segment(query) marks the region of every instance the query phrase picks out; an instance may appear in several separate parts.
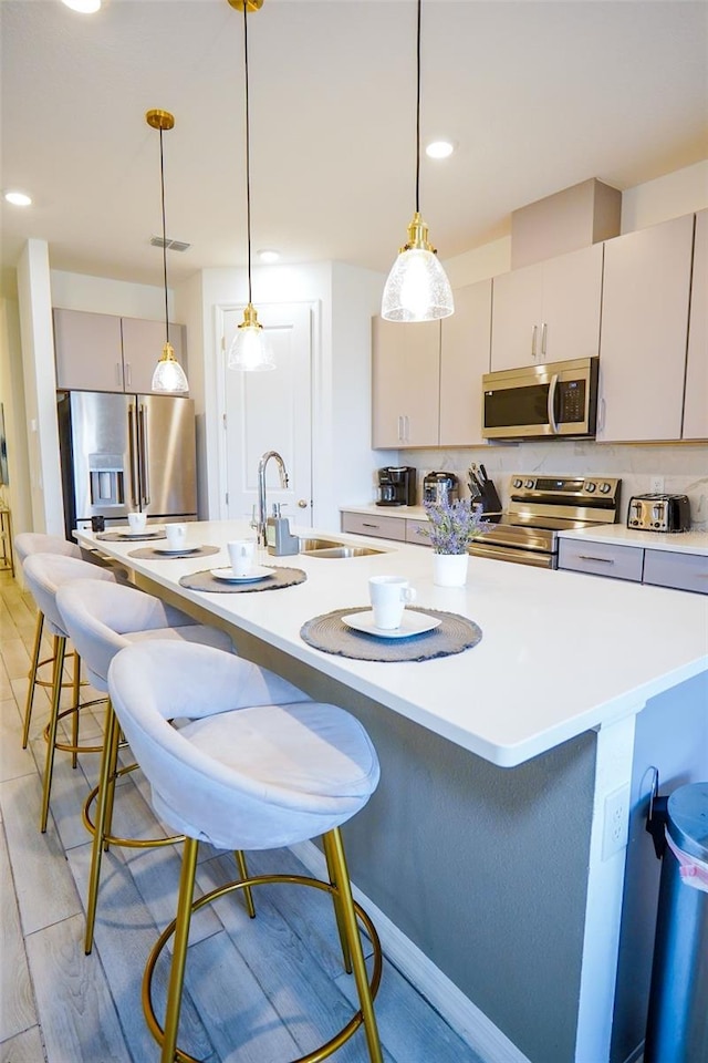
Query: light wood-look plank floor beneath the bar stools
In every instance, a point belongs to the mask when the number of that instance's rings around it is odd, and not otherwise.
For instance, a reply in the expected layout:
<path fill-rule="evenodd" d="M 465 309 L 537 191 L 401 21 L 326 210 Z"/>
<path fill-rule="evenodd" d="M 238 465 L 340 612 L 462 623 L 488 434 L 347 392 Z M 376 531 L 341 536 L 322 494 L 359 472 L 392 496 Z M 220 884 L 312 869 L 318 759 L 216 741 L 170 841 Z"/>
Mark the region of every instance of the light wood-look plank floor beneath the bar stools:
<path fill-rule="evenodd" d="M 34 616 L 31 597 L 0 574 L 1 1063 L 152 1063 L 158 1052 L 143 1018 L 140 981 L 158 930 L 174 916 L 179 849 L 114 847 L 104 857 L 96 945 L 86 957 L 91 843 L 81 806 L 98 758 L 84 755 L 72 771 L 69 755 L 56 754 L 50 824 L 41 835 L 44 691 L 35 699 L 30 747 L 21 749 Z M 82 723 L 82 739 L 100 734 L 101 725 L 97 708 Z M 118 833 L 159 832 L 139 773 L 121 782 L 116 814 Z M 249 869 L 305 874 L 288 850 L 249 854 Z M 232 856 L 202 846 L 200 888 L 233 877 Z M 327 897 L 270 886 L 256 900 L 254 920 L 231 896 L 192 923 L 179 1042 L 207 1063 L 292 1060 L 352 1011 L 353 979 L 342 972 Z M 167 963 L 165 957 L 155 979 L 159 1015 Z M 386 1063 L 482 1063 L 389 963 L 376 1012 Z M 363 1032 L 333 1059 L 366 1063 Z"/>

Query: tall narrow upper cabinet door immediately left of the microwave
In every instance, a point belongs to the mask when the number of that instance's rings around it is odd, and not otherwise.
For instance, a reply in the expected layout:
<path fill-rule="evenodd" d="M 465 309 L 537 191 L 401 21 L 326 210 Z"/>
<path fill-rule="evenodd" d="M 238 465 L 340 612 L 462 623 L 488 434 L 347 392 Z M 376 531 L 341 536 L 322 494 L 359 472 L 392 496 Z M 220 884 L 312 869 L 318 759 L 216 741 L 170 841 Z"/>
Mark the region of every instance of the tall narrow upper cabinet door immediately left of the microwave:
<path fill-rule="evenodd" d="M 440 446 L 482 445 L 483 373 L 489 372 L 491 280 L 455 291 L 455 313 L 441 321 Z"/>

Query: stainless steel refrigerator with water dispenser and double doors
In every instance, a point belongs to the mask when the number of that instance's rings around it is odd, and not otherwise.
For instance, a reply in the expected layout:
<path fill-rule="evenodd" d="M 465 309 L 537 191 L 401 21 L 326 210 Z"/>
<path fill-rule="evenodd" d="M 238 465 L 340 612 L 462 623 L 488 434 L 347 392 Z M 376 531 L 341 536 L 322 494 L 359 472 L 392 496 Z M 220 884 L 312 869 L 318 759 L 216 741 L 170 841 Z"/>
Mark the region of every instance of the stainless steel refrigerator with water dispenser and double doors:
<path fill-rule="evenodd" d="M 195 404 L 173 395 L 56 395 L 66 536 L 91 518 L 197 518 Z"/>

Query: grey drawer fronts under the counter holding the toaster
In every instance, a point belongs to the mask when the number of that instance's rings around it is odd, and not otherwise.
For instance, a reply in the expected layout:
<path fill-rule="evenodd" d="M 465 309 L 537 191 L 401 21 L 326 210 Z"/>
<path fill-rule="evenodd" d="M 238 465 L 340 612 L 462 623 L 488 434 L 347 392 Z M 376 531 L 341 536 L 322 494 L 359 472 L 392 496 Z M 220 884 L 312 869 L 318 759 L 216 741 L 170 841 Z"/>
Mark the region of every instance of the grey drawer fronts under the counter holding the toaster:
<path fill-rule="evenodd" d="M 708 557 L 701 554 L 561 539 L 559 568 L 708 595 Z"/>

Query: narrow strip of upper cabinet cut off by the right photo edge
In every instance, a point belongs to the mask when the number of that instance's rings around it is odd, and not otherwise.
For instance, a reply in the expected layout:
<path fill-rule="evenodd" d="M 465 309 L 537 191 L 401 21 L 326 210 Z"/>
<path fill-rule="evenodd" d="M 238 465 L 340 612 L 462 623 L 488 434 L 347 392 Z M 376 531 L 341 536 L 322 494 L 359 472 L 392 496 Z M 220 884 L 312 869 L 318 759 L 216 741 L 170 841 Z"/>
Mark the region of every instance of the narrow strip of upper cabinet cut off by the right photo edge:
<path fill-rule="evenodd" d="M 696 215 L 683 438 L 708 440 L 708 210 Z"/>

